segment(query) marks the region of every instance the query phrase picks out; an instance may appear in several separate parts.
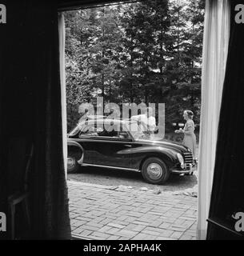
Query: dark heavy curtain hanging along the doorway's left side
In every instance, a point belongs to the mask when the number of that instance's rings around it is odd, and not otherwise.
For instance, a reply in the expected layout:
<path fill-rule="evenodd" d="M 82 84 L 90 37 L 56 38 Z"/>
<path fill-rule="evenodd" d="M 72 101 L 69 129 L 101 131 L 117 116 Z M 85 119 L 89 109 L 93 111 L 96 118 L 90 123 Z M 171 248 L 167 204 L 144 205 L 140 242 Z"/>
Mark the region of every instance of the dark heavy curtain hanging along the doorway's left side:
<path fill-rule="evenodd" d="M 43 4 L 42 4 L 43 5 Z M 62 151 L 57 6 L 38 6 L 38 82 L 35 112 L 36 173 L 33 191 L 34 233 L 42 238 L 70 238 L 68 196 Z M 33 15 L 34 18 L 34 15 Z M 44 86 L 45 85 L 45 86 Z"/>

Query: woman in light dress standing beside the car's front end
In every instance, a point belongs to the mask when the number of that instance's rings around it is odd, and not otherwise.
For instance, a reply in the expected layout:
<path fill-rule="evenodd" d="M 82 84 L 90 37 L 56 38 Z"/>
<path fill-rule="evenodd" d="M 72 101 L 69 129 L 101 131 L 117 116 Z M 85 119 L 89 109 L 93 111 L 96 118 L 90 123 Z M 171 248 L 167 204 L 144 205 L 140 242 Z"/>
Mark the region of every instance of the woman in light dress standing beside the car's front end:
<path fill-rule="evenodd" d="M 183 118 L 186 120 L 184 129 L 175 130 L 178 134 L 184 134 L 183 145 L 187 146 L 193 154 L 194 159 L 196 159 L 196 135 L 194 134 L 194 122 L 192 120 L 194 114 L 190 110 L 185 110 Z"/>

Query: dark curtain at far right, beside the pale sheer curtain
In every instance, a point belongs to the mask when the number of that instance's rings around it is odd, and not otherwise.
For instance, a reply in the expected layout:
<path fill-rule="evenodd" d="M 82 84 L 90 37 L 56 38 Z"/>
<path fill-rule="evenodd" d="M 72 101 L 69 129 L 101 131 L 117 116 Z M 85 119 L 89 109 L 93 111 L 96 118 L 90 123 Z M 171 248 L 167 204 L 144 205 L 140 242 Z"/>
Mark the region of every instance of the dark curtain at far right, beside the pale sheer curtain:
<path fill-rule="evenodd" d="M 244 4 L 244 1 L 230 1 L 230 44 L 209 215 L 211 220 L 221 223 L 230 230 L 234 230 L 236 222 L 232 215 L 244 212 L 244 24 L 234 21 L 237 14 L 234 8 L 240 3 Z M 230 230 L 209 223 L 207 239 L 243 239 Z"/>

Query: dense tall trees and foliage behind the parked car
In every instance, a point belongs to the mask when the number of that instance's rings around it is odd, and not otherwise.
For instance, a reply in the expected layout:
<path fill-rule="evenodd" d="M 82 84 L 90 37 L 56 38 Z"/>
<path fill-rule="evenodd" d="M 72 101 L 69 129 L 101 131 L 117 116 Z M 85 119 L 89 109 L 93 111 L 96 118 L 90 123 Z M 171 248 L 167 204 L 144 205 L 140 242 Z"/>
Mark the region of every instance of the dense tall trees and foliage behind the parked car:
<path fill-rule="evenodd" d="M 204 1 L 154 0 L 66 12 L 68 130 L 78 106 L 166 103 L 166 128 L 199 123 Z"/>

